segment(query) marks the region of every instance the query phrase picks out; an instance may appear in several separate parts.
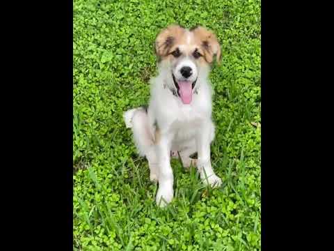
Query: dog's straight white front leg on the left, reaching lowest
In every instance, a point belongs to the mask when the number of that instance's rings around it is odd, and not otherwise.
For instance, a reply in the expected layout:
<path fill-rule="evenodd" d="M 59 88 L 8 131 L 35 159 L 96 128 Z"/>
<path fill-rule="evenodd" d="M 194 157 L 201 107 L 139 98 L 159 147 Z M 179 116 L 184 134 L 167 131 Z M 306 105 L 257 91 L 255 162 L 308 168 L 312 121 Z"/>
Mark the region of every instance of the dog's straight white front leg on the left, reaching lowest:
<path fill-rule="evenodd" d="M 173 135 L 161 134 L 157 142 L 157 155 L 159 158 L 159 189 L 157 192 L 157 204 L 166 206 L 173 199 L 173 169 L 170 167 L 170 146 Z M 163 198 L 163 199 L 161 199 Z M 165 202 L 166 201 L 166 202 Z"/>

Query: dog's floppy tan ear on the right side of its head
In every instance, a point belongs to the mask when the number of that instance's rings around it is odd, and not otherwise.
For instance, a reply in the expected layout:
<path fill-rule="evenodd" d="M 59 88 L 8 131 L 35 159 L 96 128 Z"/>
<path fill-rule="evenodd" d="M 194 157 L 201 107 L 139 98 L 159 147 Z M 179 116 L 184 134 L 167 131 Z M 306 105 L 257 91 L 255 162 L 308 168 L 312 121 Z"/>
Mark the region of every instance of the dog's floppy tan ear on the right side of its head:
<path fill-rule="evenodd" d="M 212 63 L 214 55 L 216 55 L 216 61 L 219 63 L 221 60 L 221 45 L 219 45 L 216 35 L 202 26 L 197 26 L 191 31 L 200 40 L 205 60 L 208 63 Z"/>

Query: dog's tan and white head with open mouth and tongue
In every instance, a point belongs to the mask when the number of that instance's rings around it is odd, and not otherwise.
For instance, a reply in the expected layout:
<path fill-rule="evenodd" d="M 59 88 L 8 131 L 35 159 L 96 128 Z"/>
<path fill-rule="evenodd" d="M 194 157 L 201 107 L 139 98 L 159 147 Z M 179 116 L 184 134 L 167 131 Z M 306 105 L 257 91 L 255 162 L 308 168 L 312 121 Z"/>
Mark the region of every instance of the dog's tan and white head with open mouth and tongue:
<path fill-rule="evenodd" d="M 214 55 L 217 62 L 221 56 L 216 36 L 201 26 L 190 30 L 168 26 L 157 36 L 155 50 L 159 60 L 170 68 L 170 88 L 176 89 L 184 104 L 192 100 L 201 69 L 208 68 Z"/>

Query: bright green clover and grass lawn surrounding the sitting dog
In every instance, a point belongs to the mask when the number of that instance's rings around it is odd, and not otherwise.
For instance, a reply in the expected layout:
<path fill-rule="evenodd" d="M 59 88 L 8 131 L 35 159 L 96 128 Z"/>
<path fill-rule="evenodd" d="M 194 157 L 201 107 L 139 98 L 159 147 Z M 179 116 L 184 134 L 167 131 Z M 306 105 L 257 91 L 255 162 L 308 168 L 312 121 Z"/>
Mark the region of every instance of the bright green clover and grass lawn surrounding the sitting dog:
<path fill-rule="evenodd" d="M 148 102 L 154 39 L 171 23 L 221 41 L 210 79 L 223 185 L 173 160 L 175 199 L 161 209 L 122 113 Z M 260 1 L 74 0 L 74 250 L 261 249 L 260 34 Z"/>

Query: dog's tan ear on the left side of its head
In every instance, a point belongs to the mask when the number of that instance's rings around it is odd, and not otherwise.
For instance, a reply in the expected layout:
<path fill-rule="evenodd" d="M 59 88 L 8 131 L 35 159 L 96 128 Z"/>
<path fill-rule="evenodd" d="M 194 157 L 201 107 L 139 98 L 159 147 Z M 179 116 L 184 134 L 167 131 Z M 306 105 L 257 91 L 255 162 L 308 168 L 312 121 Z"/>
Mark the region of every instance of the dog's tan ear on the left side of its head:
<path fill-rule="evenodd" d="M 155 40 L 155 52 L 158 56 L 166 56 L 170 52 L 170 48 L 175 45 L 176 38 L 180 38 L 184 33 L 184 29 L 176 24 L 168 26 L 162 30 Z"/>

